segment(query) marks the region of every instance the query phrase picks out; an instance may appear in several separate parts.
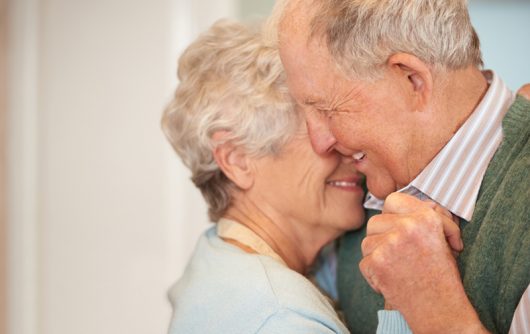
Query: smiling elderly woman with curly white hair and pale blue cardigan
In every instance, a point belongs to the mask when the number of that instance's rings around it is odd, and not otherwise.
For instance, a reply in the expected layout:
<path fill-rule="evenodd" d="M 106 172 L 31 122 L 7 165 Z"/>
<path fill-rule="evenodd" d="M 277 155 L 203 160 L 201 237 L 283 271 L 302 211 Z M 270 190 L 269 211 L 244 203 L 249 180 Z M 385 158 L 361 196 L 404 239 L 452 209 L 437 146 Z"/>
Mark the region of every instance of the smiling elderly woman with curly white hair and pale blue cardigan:
<path fill-rule="evenodd" d="M 163 129 L 216 224 L 170 292 L 170 333 L 348 332 L 306 275 L 325 282 L 320 251 L 363 224 L 361 175 L 313 152 L 277 49 L 220 21 L 188 47 L 178 77 Z"/>

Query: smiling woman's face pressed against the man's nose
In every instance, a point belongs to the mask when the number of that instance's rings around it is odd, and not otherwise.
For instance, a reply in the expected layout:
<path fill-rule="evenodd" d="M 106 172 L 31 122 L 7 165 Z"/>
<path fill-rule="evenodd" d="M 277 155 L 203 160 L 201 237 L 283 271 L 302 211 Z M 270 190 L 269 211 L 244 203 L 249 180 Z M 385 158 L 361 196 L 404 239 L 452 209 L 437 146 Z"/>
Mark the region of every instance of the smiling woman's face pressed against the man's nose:
<path fill-rule="evenodd" d="M 363 177 L 333 152 L 317 155 L 301 124 L 278 156 L 256 161 L 254 190 L 282 221 L 340 233 L 364 222 Z"/>

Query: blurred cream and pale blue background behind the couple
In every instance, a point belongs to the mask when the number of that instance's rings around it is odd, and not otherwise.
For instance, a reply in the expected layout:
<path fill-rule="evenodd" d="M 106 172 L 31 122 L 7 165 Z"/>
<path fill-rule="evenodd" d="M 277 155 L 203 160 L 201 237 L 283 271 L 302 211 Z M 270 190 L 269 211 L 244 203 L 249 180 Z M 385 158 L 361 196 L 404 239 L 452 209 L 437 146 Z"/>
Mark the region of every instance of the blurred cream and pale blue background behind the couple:
<path fill-rule="evenodd" d="M 272 4 L 0 0 L 0 333 L 166 332 L 209 226 L 159 126 L 177 56 Z M 530 82 L 530 1 L 470 11 L 486 67 Z"/>

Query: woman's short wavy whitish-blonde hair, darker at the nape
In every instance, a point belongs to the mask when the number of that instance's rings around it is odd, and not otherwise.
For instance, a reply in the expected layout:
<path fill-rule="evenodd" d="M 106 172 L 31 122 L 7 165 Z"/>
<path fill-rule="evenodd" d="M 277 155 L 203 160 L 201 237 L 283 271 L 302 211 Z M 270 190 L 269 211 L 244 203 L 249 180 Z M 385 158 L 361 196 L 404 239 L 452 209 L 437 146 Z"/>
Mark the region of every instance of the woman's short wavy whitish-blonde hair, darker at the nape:
<path fill-rule="evenodd" d="M 180 83 L 164 111 L 162 128 L 201 190 L 212 221 L 232 202 L 235 184 L 219 169 L 212 135 L 252 157 L 277 154 L 298 128 L 278 49 L 259 27 L 222 20 L 179 59 Z"/>

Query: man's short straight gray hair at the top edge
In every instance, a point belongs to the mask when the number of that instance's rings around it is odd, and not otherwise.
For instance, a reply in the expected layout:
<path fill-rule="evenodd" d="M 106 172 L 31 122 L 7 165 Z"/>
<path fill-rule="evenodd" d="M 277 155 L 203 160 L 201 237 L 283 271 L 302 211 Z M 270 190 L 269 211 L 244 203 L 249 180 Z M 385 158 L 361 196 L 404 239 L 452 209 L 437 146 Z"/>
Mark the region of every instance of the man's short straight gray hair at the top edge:
<path fill-rule="evenodd" d="M 311 37 L 323 37 L 349 74 L 377 76 L 398 52 L 434 69 L 482 66 L 466 0 L 314 0 L 314 6 Z"/>

